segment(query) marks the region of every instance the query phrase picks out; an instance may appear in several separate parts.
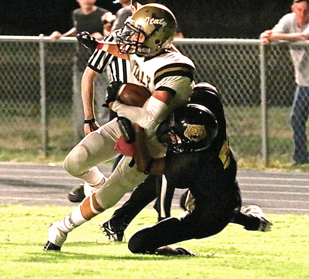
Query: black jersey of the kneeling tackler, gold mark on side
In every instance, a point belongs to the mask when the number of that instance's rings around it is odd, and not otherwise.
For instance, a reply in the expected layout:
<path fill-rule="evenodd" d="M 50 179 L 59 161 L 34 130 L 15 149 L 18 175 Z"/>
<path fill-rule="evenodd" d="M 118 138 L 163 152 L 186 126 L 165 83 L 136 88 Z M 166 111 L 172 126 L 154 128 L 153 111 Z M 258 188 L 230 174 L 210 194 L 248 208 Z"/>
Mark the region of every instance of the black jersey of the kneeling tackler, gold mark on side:
<path fill-rule="evenodd" d="M 201 151 L 175 153 L 168 150 L 165 177 L 168 185 L 189 188 L 196 205 L 214 208 L 222 206 L 222 195 L 228 199 L 238 192 L 235 183 L 236 161 L 228 144 L 226 120 L 220 98 L 217 94 L 204 90 L 194 94 L 191 101 L 207 107 L 216 116 L 218 134 L 212 144 Z M 231 208 L 235 208 L 233 206 L 231 205 Z"/>

